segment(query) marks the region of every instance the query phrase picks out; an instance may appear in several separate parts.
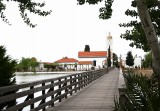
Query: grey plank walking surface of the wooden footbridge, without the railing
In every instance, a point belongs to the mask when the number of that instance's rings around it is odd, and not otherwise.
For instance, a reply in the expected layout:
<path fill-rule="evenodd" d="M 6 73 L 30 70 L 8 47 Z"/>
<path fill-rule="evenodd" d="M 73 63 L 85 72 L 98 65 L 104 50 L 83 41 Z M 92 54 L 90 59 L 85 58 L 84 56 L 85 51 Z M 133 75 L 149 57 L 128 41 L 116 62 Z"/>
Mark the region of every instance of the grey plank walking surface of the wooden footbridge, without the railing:
<path fill-rule="evenodd" d="M 114 69 L 47 111 L 112 111 L 114 97 L 118 95 L 118 78 L 119 70 Z"/>

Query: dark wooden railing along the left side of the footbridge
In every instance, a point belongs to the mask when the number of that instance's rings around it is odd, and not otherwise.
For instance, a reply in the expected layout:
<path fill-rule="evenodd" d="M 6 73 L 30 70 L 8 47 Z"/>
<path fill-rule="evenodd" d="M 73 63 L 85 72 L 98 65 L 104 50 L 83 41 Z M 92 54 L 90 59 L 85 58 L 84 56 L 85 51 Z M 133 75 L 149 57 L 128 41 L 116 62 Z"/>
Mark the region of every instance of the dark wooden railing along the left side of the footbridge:
<path fill-rule="evenodd" d="M 100 69 L 32 83 L 0 87 L 0 106 L 6 105 L 1 110 L 38 111 L 42 109 L 45 111 L 48 106 L 54 106 L 55 102 L 61 102 L 62 99 L 76 93 L 110 70 L 111 68 Z"/>

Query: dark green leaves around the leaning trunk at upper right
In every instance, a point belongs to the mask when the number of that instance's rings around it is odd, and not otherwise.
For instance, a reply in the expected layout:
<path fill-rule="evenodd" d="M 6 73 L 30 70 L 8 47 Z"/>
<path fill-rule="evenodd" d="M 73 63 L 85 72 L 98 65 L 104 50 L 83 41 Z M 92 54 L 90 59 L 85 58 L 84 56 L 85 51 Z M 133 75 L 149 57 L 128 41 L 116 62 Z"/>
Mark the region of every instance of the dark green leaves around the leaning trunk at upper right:
<path fill-rule="evenodd" d="M 158 4 L 156 3 L 156 0 L 147 0 L 147 7 L 148 11 L 151 17 L 151 20 L 153 22 L 156 34 L 158 37 L 160 37 L 160 8 L 158 7 Z M 136 8 L 137 4 L 136 1 L 133 0 L 132 7 Z M 132 41 L 130 43 L 131 47 L 136 46 L 136 48 L 141 48 L 145 52 L 150 50 L 148 41 L 146 39 L 144 30 L 142 28 L 141 22 L 139 22 L 139 14 L 137 10 L 129 10 L 127 9 L 125 14 L 127 16 L 133 17 L 134 20 L 128 22 L 128 23 L 121 23 L 119 24 L 120 27 L 127 27 L 127 30 L 124 34 L 121 35 L 121 38 Z M 130 28 L 131 27 L 131 28 Z"/>

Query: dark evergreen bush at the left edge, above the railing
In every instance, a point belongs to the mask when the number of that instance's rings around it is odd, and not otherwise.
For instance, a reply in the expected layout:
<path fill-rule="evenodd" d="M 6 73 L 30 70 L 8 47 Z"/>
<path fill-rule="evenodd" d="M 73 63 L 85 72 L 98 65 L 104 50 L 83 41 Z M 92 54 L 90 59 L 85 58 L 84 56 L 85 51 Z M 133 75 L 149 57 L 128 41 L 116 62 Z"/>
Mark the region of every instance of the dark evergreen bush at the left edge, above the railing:
<path fill-rule="evenodd" d="M 4 46 L 0 46 L 0 87 L 15 84 L 16 61 L 6 55 Z"/>

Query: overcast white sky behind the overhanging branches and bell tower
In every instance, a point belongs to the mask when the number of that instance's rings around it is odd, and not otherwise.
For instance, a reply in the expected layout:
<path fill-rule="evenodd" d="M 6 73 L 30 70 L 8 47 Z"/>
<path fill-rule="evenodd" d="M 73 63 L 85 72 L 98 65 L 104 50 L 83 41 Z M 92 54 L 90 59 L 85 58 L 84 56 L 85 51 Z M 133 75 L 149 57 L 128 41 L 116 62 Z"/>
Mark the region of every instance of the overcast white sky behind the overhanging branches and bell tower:
<path fill-rule="evenodd" d="M 44 0 L 35 0 L 43 2 Z M 85 45 L 91 51 L 105 51 L 108 33 L 113 37 L 113 52 L 126 56 L 144 56 L 141 49 L 129 47 L 129 41 L 120 38 L 126 29 L 119 23 L 129 22 L 132 18 L 124 12 L 130 8 L 130 1 L 115 0 L 113 15 L 109 20 L 98 18 L 98 5 L 77 5 L 76 0 L 45 0 L 43 10 L 52 10 L 47 17 L 28 13 L 35 28 L 27 26 L 18 11 L 15 2 L 8 2 L 5 14 L 11 26 L 0 20 L 0 45 L 4 45 L 7 55 L 20 60 L 22 57 L 36 57 L 42 62 L 54 62 L 62 57 L 78 59 L 78 51 L 84 51 Z"/>

